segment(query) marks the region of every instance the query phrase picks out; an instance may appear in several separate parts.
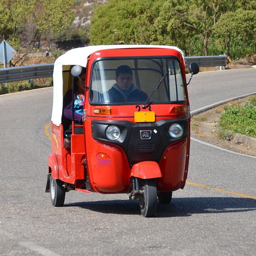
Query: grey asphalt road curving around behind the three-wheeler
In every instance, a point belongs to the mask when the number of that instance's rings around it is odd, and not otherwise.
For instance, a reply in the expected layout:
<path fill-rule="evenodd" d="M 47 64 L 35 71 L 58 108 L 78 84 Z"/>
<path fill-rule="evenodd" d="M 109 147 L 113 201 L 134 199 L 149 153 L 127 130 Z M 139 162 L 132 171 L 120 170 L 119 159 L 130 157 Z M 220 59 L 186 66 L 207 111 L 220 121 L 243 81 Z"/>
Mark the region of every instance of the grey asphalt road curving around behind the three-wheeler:
<path fill-rule="evenodd" d="M 256 69 L 199 73 L 191 110 L 256 92 Z M 0 96 L 0 255 L 255 255 L 256 158 L 192 138 L 188 184 L 154 218 L 125 194 L 45 193 L 52 88 Z"/>

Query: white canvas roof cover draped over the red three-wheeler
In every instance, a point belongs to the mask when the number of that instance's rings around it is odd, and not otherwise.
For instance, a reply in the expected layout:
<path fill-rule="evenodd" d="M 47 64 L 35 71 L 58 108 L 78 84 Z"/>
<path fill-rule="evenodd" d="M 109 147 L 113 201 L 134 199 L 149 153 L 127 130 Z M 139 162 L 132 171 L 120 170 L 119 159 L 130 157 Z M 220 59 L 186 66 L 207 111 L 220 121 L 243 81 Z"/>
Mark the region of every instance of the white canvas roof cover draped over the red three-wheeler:
<path fill-rule="evenodd" d="M 53 105 L 52 105 L 52 122 L 60 126 L 62 118 L 63 105 L 63 76 L 62 71 L 65 65 L 80 65 L 86 67 L 88 57 L 99 50 L 106 49 L 124 49 L 124 48 L 167 48 L 177 50 L 182 54 L 184 60 L 184 53 L 178 47 L 164 46 L 164 45 L 96 45 L 86 46 L 81 48 L 74 48 L 69 50 L 54 62 L 53 70 Z"/>

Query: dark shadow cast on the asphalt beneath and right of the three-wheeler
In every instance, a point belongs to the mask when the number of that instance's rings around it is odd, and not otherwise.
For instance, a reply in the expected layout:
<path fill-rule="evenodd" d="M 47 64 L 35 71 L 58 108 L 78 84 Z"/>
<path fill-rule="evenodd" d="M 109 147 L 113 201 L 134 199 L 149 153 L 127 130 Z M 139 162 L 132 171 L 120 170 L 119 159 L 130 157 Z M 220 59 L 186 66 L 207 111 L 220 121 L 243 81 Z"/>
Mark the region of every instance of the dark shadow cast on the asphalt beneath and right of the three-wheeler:
<path fill-rule="evenodd" d="M 64 207 L 81 207 L 106 214 L 140 214 L 138 200 L 102 200 L 64 204 Z M 234 197 L 172 198 L 170 204 L 158 202 L 155 217 L 169 218 L 192 214 L 247 212 L 256 210 L 256 200 Z"/>

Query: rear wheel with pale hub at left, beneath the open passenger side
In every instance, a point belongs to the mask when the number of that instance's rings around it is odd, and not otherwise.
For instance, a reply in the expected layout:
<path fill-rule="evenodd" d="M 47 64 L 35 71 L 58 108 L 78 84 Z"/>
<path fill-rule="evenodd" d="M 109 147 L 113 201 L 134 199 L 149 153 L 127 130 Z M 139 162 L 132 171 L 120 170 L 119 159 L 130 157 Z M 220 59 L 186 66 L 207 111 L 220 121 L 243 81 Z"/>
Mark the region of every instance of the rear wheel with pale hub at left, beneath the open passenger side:
<path fill-rule="evenodd" d="M 63 187 L 63 182 L 61 180 L 55 180 L 50 178 L 50 194 L 53 206 L 63 206 L 65 201 L 65 188 Z"/>

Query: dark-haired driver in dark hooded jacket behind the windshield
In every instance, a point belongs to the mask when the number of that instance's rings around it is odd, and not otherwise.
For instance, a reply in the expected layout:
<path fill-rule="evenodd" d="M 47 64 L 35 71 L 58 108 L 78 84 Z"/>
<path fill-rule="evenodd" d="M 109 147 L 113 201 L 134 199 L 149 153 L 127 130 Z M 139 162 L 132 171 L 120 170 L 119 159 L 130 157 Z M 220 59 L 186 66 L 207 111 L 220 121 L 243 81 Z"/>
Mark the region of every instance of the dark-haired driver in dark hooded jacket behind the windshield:
<path fill-rule="evenodd" d="M 116 69 L 116 83 L 102 95 L 102 102 L 145 102 L 147 99 L 148 95 L 132 83 L 132 69 L 127 65 Z"/>

